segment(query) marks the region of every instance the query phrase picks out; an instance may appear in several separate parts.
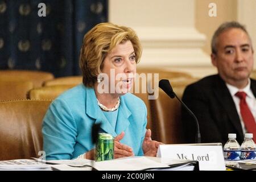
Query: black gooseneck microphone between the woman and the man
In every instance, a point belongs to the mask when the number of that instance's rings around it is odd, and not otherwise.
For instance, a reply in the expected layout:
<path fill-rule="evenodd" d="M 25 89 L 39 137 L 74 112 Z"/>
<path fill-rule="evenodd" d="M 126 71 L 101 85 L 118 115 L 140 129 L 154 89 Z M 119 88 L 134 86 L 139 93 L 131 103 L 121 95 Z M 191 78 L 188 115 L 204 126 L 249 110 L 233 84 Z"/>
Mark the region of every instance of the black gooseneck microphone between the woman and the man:
<path fill-rule="evenodd" d="M 195 119 L 196 122 L 196 138 L 195 138 L 195 142 L 196 143 L 201 143 L 201 134 L 200 134 L 200 129 L 199 129 L 199 122 L 197 121 L 197 118 L 195 116 L 195 114 L 184 104 L 183 101 L 181 101 L 179 99 L 179 97 L 177 97 L 177 95 L 175 94 L 174 90 L 172 89 L 172 86 L 169 82 L 169 80 L 166 79 L 162 79 L 159 81 L 159 87 L 171 98 L 176 97 L 177 100 L 181 103 L 181 105 L 183 107 L 185 107 L 185 109 L 188 111 L 188 113 L 193 117 L 193 119 Z"/>

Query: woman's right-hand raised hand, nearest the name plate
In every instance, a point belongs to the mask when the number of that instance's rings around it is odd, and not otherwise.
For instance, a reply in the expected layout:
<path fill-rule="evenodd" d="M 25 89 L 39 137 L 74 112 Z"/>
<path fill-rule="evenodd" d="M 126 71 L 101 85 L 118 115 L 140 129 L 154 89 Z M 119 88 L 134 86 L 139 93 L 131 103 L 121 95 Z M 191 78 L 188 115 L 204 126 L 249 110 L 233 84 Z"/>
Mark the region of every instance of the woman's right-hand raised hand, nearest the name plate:
<path fill-rule="evenodd" d="M 148 129 L 145 134 L 145 138 L 143 140 L 142 149 L 145 156 L 156 156 L 158 152 L 159 144 L 163 144 L 161 142 L 157 142 L 151 139 L 151 130 Z"/>

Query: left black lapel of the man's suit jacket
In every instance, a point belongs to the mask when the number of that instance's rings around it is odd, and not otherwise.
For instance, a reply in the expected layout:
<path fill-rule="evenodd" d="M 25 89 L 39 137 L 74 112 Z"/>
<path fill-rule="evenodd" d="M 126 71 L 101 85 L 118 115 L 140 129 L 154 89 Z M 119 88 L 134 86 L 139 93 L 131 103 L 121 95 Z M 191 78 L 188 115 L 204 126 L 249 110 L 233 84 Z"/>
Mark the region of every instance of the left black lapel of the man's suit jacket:
<path fill-rule="evenodd" d="M 233 98 L 230 95 L 228 88 L 225 85 L 225 82 L 221 79 L 220 76 L 217 76 L 216 85 L 213 88 L 216 98 L 220 101 L 222 107 L 228 113 L 230 122 L 236 128 L 237 134 L 243 138 L 243 131 L 240 122 L 239 115 L 237 113 L 236 105 L 234 104 Z"/>

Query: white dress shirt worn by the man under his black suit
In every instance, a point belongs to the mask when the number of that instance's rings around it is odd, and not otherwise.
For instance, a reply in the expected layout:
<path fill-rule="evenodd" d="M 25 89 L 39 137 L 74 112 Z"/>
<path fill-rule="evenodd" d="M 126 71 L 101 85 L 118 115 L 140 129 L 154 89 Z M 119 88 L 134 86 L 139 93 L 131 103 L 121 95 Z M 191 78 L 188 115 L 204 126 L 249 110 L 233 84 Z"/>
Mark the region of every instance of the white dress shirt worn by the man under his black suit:
<path fill-rule="evenodd" d="M 243 119 L 242 119 L 241 113 L 240 113 L 240 98 L 235 96 L 235 94 L 237 92 L 245 92 L 246 93 L 246 103 L 247 103 L 251 113 L 253 114 L 254 121 L 256 122 L 256 99 L 254 97 L 253 92 L 250 89 L 251 88 L 251 80 L 248 79 L 248 84 L 243 89 L 238 89 L 238 88 L 236 88 L 236 86 L 229 85 L 227 83 L 226 83 L 226 86 L 228 87 L 229 92 L 233 98 L 235 105 L 236 105 L 237 112 L 238 112 L 241 126 L 242 126 L 242 130 L 243 130 L 243 134 L 245 134 L 247 132 L 247 130 L 245 128 L 245 123 L 243 123 Z"/>

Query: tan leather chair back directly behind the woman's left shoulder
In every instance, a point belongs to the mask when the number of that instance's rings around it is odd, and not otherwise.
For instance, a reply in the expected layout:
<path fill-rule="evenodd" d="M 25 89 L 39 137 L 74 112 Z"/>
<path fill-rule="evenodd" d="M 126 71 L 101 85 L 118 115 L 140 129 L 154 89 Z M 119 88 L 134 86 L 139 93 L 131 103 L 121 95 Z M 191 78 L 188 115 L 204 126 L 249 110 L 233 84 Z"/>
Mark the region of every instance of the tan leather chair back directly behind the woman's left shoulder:
<path fill-rule="evenodd" d="M 28 99 L 32 100 L 54 100 L 61 93 L 68 89 L 71 89 L 76 85 L 52 85 L 43 86 L 30 90 L 28 93 Z"/>

